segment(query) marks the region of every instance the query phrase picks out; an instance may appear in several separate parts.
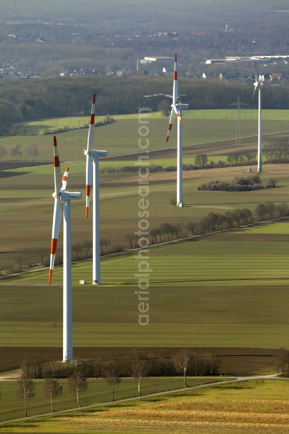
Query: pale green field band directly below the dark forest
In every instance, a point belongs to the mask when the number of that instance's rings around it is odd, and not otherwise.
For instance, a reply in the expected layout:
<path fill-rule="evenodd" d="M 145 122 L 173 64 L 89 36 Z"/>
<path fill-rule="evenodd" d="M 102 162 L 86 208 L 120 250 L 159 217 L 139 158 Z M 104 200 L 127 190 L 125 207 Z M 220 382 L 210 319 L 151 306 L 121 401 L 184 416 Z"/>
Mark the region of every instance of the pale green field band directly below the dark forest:
<path fill-rule="evenodd" d="M 216 142 L 234 139 L 236 135 L 236 117 L 234 112 L 228 110 L 207 110 L 207 111 L 184 111 L 184 128 L 183 128 L 183 145 L 196 145 L 200 143 Z M 242 115 L 242 136 L 251 137 L 256 136 L 258 131 L 257 125 L 257 111 L 246 111 L 245 116 Z M 266 113 L 268 112 L 268 113 Z M 276 112 L 276 113 L 275 113 Z M 278 132 L 288 132 L 288 111 L 286 110 L 263 110 L 263 122 L 262 133 L 273 134 Z M 227 115 L 226 115 L 227 113 Z M 138 133 L 138 119 L 137 115 L 127 115 L 128 117 L 120 117 L 115 119 L 117 122 L 95 128 L 95 147 L 99 149 L 105 149 L 108 151 L 108 156 L 133 154 L 140 151 L 138 147 L 138 139 L 140 138 Z M 61 128 L 59 125 L 68 125 L 69 119 L 49 119 L 39 121 L 39 128 L 42 122 L 46 122 L 46 127 L 55 130 Z M 74 119 L 74 118 L 73 118 Z M 82 118 L 82 124 L 83 124 Z M 86 120 L 85 120 L 86 119 Z M 88 118 L 84 119 L 84 123 Z M 78 125 L 79 118 L 75 119 Z M 97 122 L 97 118 L 96 118 Z M 159 113 L 152 113 L 148 120 L 150 141 L 149 149 L 151 151 L 175 148 L 176 147 L 176 126 L 171 132 L 171 138 L 166 143 L 167 137 L 167 124 L 168 118 L 161 117 Z M 63 124 L 63 125 L 62 125 Z M 21 145 L 21 151 L 23 155 L 19 158 L 20 161 L 29 161 L 31 156 L 28 149 L 31 144 L 37 144 L 39 149 L 39 161 L 52 161 L 52 135 L 35 135 L 37 130 L 37 123 L 35 122 L 29 127 L 32 135 L 16 135 L 11 137 L 1 137 L 0 145 L 4 146 L 8 153 L 3 157 L 3 161 L 11 160 L 10 151 L 16 145 Z M 43 124 L 44 125 L 44 124 Z M 72 125 L 72 124 L 71 124 Z M 75 125 L 75 126 L 77 126 Z M 41 133 L 41 129 L 39 133 Z M 144 133 L 144 132 L 143 132 Z M 86 148 L 88 128 L 81 130 L 82 148 Z M 65 133 L 57 134 L 59 143 L 59 155 L 62 161 L 76 161 L 76 144 L 77 144 L 77 131 L 69 131 Z"/>

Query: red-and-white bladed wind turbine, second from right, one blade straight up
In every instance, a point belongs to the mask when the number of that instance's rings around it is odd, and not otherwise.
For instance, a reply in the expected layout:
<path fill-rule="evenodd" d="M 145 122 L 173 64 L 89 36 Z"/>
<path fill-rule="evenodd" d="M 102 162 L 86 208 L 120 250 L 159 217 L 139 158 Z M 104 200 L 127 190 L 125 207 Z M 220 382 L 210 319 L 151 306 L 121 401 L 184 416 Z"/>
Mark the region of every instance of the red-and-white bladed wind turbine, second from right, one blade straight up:
<path fill-rule="evenodd" d="M 177 115 L 177 207 L 183 207 L 183 142 L 182 142 L 182 109 L 187 109 L 188 104 L 177 103 L 177 54 L 174 56 L 174 86 L 173 86 L 173 103 L 171 105 L 171 117 L 167 130 L 167 141 L 170 131 Z"/>

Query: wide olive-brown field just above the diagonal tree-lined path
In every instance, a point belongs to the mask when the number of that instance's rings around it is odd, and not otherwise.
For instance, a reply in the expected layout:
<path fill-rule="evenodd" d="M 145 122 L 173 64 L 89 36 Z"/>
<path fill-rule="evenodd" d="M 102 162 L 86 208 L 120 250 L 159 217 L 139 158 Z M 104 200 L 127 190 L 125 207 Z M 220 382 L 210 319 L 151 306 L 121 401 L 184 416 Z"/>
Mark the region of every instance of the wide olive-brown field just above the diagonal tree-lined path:
<path fill-rule="evenodd" d="M 114 162 L 112 162 L 114 163 Z M 280 167 L 281 166 L 281 167 Z M 68 188 L 85 194 L 85 175 L 75 174 L 70 166 Z M 62 164 L 62 172 L 65 164 Z M 50 173 L 49 173 L 50 172 Z M 209 212 L 225 213 L 234 208 L 248 207 L 254 210 L 260 202 L 279 204 L 288 200 L 289 180 L 286 165 L 264 165 L 263 182 L 278 179 L 275 189 L 252 192 L 197 191 L 203 182 L 219 179 L 233 181 L 244 175 L 244 168 L 209 169 L 184 172 L 184 201 L 180 210 L 172 207 L 171 197 L 176 196 L 175 172 L 152 173 L 150 183 L 150 228 L 161 223 L 176 224 L 180 218 L 187 223 L 198 221 Z M 49 248 L 53 219 L 53 167 L 15 169 L 2 172 L 0 190 L 1 250 L 0 267 L 16 265 L 14 257 L 21 253 L 26 257 L 24 266 L 39 263 L 39 248 Z M 171 178 L 162 180 L 164 175 Z M 153 181 L 156 176 L 156 181 Z M 160 177 L 160 178 L 158 178 Z M 122 182 L 123 180 L 131 182 Z M 116 183 L 109 183 L 117 181 Z M 138 176 L 135 174 L 100 174 L 101 237 L 128 248 L 126 233 L 134 232 L 138 225 Z M 180 217 L 181 216 L 181 217 Z M 92 210 L 85 219 L 85 197 L 72 203 L 72 244 L 91 238 Z M 59 234 L 59 252 L 62 248 L 62 227 Z M 46 261 L 48 256 L 46 256 Z"/>

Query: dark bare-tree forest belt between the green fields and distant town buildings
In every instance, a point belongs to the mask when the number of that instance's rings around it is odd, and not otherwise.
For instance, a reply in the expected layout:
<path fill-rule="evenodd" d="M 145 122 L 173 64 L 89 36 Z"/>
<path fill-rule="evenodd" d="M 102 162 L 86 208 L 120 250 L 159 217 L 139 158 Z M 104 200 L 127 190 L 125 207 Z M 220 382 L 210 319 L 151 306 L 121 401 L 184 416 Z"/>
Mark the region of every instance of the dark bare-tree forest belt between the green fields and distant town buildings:
<path fill-rule="evenodd" d="M 226 109 L 236 95 L 249 107 L 252 85 L 220 82 L 217 79 L 180 79 L 182 102 L 190 109 Z M 96 115 L 130 114 L 140 107 L 158 109 L 163 96 L 146 99 L 144 95 L 171 94 L 171 77 L 55 77 L 0 82 L 0 134 L 11 134 L 13 123 L 40 118 L 87 115 L 96 93 Z M 263 109 L 289 109 L 289 87 L 266 88 Z"/>

